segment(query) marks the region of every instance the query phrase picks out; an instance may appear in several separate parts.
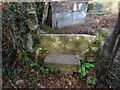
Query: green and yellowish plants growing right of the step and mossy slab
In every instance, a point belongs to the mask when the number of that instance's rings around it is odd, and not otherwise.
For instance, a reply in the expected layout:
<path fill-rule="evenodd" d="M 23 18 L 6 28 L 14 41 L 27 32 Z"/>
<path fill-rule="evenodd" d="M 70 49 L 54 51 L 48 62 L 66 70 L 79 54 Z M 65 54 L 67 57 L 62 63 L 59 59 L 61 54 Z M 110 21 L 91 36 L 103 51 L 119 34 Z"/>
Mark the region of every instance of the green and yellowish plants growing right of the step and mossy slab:
<path fill-rule="evenodd" d="M 94 64 L 89 63 L 91 62 L 90 59 L 95 59 L 96 57 L 100 57 L 100 51 L 102 50 L 103 45 L 101 45 L 101 41 L 103 41 L 103 34 L 99 31 L 97 33 L 97 37 L 94 40 L 91 40 L 90 44 L 87 46 L 87 51 L 83 54 L 82 59 L 80 60 L 80 78 L 84 78 L 87 76 L 86 81 L 89 85 L 94 86 L 96 84 L 97 78 L 95 75 L 95 72 L 91 71 L 95 68 L 97 68 Z M 87 62 L 86 62 L 87 61 Z M 88 62 L 89 61 L 89 62 Z M 89 75 L 89 73 L 91 73 Z"/>

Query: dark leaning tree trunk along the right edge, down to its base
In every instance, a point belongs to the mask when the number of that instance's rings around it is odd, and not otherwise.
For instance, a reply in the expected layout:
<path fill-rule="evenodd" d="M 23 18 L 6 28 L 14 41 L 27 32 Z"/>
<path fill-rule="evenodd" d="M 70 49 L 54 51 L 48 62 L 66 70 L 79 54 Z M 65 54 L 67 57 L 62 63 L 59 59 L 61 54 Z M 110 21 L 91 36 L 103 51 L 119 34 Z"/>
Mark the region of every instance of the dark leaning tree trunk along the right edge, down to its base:
<path fill-rule="evenodd" d="M 98 83 L 103 83 L 104 85 L 106 76 L 108 75 L 108 72 L 112 66 L 113 60 L 116 56 L 119 47 L 120 47 L 120 10 L 118 12 L 116 25 L 114 27 L 113 32 L 111 33 L 108 47 L 106 48 L 107 50 L 105 51 L 105 58 L 102 57 L 100 65 L 96 69 Z"/>

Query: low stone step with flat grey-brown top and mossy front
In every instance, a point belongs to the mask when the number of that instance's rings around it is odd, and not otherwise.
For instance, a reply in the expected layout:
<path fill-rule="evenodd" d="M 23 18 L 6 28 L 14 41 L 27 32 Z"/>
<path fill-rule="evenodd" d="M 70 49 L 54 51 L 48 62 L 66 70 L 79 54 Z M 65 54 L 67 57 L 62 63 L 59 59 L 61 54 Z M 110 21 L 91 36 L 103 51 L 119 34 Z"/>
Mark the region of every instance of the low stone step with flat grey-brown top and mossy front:
<path fill-rule="evenodd" d="M 61 74 L 78 72 L 80 60 L 73 54 L 50 53 L 44 60 L 44 65 L 50 70 Z"/>

